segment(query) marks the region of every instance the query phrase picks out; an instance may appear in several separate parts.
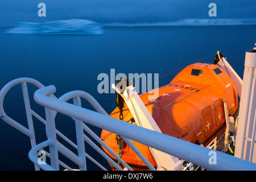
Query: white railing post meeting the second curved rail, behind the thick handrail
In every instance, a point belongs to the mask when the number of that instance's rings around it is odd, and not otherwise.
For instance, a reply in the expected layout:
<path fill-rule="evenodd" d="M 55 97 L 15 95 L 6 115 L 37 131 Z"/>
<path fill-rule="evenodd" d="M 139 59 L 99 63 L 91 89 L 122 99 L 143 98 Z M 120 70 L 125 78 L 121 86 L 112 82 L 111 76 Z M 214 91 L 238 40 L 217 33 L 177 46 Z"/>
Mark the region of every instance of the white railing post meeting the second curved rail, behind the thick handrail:
<path fill-rule="evenodd" d="M 81 107 L 81 99 L 79 97 L 73 98 L 73 104 Z M 75 119 L 76 125 L 76 140 L 77 140 L 77 151 L 79 158 L 82 159 L 82 166 L 80 170 L 86 171 L 86 157 L 85 157 L 85 144 L 84 144 L 84 129 L 82 126 L 82 121 Z"/>

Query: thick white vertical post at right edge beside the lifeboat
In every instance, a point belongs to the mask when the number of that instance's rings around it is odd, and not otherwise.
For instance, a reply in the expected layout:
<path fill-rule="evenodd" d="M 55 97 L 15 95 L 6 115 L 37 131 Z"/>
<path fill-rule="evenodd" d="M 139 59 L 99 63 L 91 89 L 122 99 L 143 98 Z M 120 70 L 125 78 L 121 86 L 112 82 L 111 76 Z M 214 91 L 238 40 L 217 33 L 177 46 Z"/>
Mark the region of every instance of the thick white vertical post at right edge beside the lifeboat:
<path fill-rule="evenodd" d="M 256 163 L 256 50 L 246 52 L 235 156 Z"/>

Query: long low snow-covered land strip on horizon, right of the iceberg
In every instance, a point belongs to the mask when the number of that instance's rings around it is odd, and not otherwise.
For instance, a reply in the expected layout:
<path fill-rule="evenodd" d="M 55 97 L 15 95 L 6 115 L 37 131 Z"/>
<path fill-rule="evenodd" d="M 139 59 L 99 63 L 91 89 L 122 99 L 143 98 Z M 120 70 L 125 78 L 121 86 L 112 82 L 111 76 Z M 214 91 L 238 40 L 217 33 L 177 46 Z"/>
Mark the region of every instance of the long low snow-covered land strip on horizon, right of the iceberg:
<path fill-rule="evenodd" d="M 167 26 L 237 26 L 256 24 L 256 18 L 249 19 L 181 19 L 158 23 L 109 23 L 105 27 L 167 27 Z"/>

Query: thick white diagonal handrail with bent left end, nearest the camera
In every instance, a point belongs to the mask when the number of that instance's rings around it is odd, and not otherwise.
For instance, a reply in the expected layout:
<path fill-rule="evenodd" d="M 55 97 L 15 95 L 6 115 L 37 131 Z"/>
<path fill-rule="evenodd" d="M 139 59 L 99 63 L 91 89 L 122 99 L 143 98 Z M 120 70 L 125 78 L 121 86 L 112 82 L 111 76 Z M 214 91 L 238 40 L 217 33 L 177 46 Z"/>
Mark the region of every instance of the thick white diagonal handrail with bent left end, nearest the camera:
<path fill-rule="evenodd" d="M 256 170 L 256 164 L 224 154 L 222 152 L 210 150 L 209 148 L 197 146 L 169 135 L 156 131 L 144 129 L 107 115 L 97 113 L 76 105 L 69 104 L 49 97 L 56 92 L 55 86 L 46 86 L 36 90 L 34 100 L 49 110 L 55 110 L 79 121 L 111 131 L 122 137 L 129 138 L 142 143 L 148 147 L 166 152 L 167 154 L 184 159 L 187 162 L 196 164 L 212 170 Z M 161 142 L 159 142 L 161 141 Z M 54 144 L 53 144 L 54 145 Z M 209 154 L 216 152 L 217 163 L 209 163 Z"/>

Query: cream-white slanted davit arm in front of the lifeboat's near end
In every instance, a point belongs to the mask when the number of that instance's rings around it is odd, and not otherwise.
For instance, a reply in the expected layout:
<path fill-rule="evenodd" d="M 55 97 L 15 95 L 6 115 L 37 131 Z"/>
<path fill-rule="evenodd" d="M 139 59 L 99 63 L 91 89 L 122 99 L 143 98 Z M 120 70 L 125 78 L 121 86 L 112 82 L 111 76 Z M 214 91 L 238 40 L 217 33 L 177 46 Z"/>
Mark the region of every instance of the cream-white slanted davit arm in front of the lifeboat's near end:
<path fill-rule="evenodd" d="M 139 97 L 138 93 L 136 92 L 135 88 L 131 85 L 128 86 L 123 93 L 120 90 L 112 85 L 112 87 L 118 92 L 125 103 L 129 107 L 131 114 L 137 126 L 144 127 L 149 130 L 157 131 L 162 133 L 159 126 L 156 124 L 154 118 L 147 110 L 146 106 L 142 102 L 141 98 Z M 124 87 L 124 85 L 123 85 Z M 150 148 L 151 154 L 154 156 L 156 163 L 158 164 L 158 170 L 182 170 L 181 165 L 184 162 L 183 160 L 179 160 L 178 158 L 165 154 L 162 151 L 155 150 L 155 148 Z"/>

